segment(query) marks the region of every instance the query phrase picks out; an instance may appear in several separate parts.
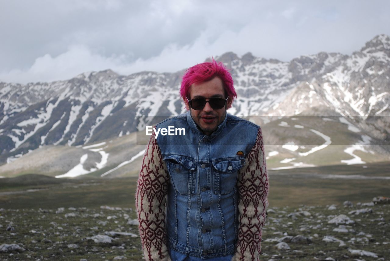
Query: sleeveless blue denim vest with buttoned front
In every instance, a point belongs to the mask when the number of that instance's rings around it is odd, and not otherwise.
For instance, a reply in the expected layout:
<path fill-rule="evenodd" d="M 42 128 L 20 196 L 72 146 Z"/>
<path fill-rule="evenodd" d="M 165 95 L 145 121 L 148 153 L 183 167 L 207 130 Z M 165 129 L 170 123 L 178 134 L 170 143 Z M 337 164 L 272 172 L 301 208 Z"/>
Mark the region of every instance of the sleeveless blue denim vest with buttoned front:
<path fill-rule="evenodd" d="M 164 120 L 157 128 L 184 128 L 185 136 L 158 135 L 167 165 L 166 229 L 168 247 L 202 258 L 236 250 L 238 170 L 255 144 L 259 126 L 227 114 L 206 136 L 190 111 Z"/>

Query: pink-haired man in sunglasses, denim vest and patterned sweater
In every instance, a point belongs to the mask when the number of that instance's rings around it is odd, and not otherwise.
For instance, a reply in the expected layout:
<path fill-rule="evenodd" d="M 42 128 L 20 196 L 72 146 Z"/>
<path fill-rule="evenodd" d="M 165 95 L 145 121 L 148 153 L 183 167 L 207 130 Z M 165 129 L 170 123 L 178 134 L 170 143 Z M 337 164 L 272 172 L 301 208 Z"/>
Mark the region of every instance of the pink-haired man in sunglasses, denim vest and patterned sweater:
<path fill-rule="evenodd" d="M 180 89 L 187 113 L 155 127 L 136 205 L 145 260 L 259 260 L 268 207 L 261 129 L 226 113 L 237 97 L 222 63 L 189 68 Z"/>

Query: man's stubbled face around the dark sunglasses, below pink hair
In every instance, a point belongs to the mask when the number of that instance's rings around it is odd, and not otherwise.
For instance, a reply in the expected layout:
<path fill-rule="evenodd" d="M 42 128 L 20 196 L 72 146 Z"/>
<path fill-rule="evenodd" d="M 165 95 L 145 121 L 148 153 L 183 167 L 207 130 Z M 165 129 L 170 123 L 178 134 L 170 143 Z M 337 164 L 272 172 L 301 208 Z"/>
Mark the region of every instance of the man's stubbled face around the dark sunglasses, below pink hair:
<path fill-rule="evenodd" d="M 204 83 L 192 84 L 190 86 L 189 96 L 190 100 L 194 98 L 211 97 L 220 97 L 223 99 L 227 98 L 225 97 L 222 80 L 219 77 L 215 77 Z M 206 105 L 203 109 L 195 110 L 190 108 L 187 100 L 185 102 L 187 109 L 190 110 L 194 122 L 198 125 L 203 134 L 209 136 L 225 119 L 226 110 L 229 109 L 232 105 L 232 98 L 229 97 L 227 104 L 222 109 L 213 109 L 211 108 L 209 102 L 206 102 Z"/>

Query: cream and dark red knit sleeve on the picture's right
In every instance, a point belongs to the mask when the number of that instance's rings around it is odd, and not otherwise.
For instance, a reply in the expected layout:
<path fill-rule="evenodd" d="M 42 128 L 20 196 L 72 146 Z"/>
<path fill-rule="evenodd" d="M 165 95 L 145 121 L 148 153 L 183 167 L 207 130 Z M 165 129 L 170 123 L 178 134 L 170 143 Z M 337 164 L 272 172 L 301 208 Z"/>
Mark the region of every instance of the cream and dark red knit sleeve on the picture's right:
<path fill-rule="evenodd" d="M 261 229 L 268 207 L 268 174 L 261 129 L 238 172 L 238 242 L 232 261 L 256 261 L 261 255 Z"/>

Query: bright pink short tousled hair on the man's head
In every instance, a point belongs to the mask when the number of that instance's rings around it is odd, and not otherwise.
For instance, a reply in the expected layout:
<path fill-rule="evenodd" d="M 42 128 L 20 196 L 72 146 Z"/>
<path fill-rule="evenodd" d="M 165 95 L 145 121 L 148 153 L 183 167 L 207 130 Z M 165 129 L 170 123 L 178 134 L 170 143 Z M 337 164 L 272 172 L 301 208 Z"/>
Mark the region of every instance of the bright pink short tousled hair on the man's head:
<path fill-rule="evenodd" d="M 212 80 L 214 77 L 219 77 L 222 80 L 223 88 L 227 96 L 231 97 L 233 101 L 234 97 L 237 97 L 237 93 L 234 90 L 232 76 L 228 72 L 228 69 L 223 66 L 223 63 L 216 62 L 214 58 L 212 58 L 211 62 L 198 63 L 186 70 L 181 81 L 180 96 L 186 101 L 186 97 L 188 97 L 188 92 L 193 83 L 204 83 L 205 81 Z"/>

